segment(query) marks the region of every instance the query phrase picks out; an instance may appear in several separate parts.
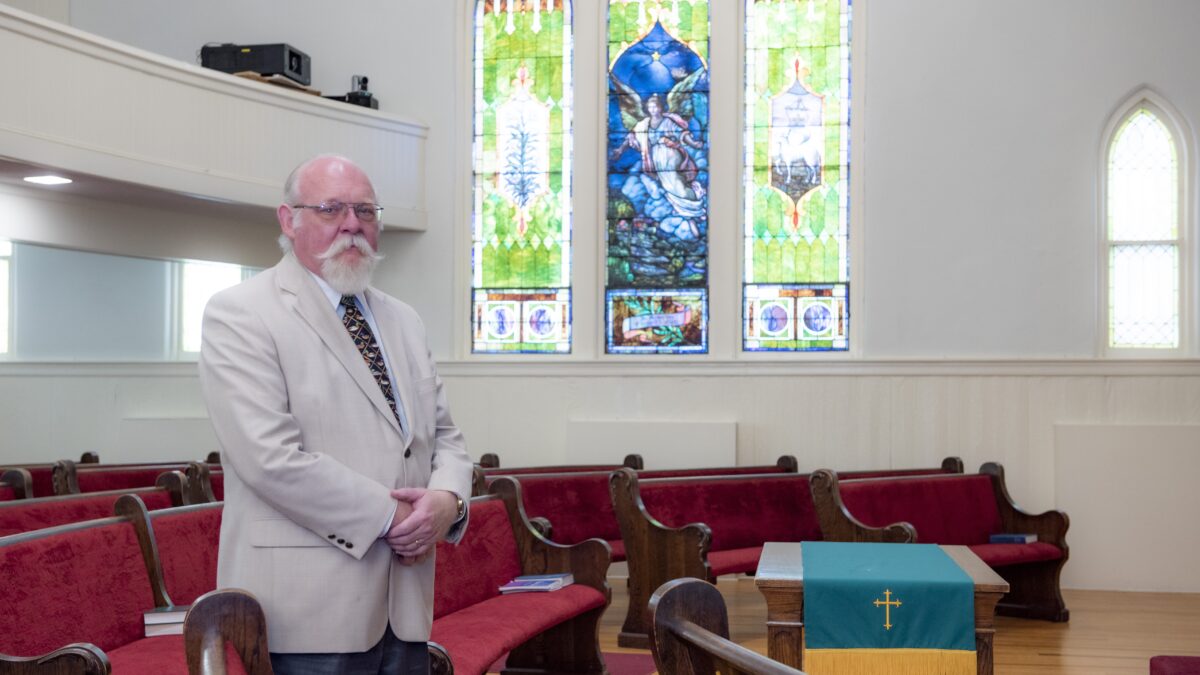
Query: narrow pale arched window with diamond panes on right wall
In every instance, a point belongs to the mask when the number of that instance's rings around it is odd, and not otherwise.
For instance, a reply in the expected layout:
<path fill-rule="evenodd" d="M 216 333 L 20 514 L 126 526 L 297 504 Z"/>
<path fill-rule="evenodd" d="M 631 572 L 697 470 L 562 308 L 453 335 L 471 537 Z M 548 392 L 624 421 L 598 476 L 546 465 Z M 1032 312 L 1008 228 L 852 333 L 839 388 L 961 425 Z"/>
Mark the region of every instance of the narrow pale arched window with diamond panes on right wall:
<path fill-rule="evenodd" d="M 1109 147 L 1109 346 L 1180 346 L 1180 162 L 1150 106 Z"/>

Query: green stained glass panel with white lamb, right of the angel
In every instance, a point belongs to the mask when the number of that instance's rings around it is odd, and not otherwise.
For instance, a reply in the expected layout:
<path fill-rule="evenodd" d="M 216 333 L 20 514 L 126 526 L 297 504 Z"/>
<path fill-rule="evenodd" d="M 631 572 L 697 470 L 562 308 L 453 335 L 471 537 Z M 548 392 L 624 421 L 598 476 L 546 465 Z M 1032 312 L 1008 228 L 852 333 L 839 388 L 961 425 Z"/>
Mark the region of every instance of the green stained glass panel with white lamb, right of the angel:
<path fill-rule="evenodd" d="M 850 348 L 850 0 L 746 0 L 743 348 Z"/>

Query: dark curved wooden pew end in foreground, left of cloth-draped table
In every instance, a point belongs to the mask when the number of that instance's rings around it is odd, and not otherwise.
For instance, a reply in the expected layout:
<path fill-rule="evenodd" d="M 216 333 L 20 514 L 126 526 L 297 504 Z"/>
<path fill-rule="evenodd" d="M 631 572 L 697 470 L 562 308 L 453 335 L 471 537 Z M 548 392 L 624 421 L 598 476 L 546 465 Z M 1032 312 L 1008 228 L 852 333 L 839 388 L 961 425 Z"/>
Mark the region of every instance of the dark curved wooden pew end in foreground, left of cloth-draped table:
<path fill-rule="evenodd" d="M 650 596 L 649 614 L 660 675 L 804 675 L 730 640 L 725 599 L 708 581 L 667 581 Z"/>

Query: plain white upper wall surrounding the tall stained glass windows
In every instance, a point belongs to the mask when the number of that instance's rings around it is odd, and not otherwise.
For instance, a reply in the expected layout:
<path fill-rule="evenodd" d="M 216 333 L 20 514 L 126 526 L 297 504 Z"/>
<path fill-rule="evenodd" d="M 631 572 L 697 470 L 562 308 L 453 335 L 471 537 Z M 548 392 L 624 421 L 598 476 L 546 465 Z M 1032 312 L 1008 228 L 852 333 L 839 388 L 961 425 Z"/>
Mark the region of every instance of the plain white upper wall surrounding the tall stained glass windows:
<path fill-rule="evenodd" d="M 382 108 L 430 125 L 430 232 L 389 243 L 383 283 L 425 316 L 434 353 L 464 353 L 470 73 L 467 0 L 158 2 L 74 0 L 76 28 L 194 61 L 212 41 L 286 41 L 313 59 L 313 84 L 342 92 L 371 76 Z M 737 20 L 738 1 L 713 4 Z M 576 2 L 576 358 L 599 354 L 596 261 L 604 4 Z M 1194 132 L 1200 4 L 1188 0 L 854 4 L 853 338 L 870 358 L 1092 357 L 1097 339 L 1099 136 L 1150 85 Z M 137 17 L 138 20 L 130 20 Z M 590 32 L 588 32 L 590 30 Z M 737 157 L 737 32 L 713 34 L 714 157 Z M 721 55 L 725 55 L 724 58 Z M 737 161 L 714 162 L 713 222 L 734 222 Z M 1193 189 L 1195 184 L 1193 181 Z M 1194 191 L 1194 190 L 1193 190 Z M 734 357 L 736 227 L 714 225 L 713 359 Z"/>

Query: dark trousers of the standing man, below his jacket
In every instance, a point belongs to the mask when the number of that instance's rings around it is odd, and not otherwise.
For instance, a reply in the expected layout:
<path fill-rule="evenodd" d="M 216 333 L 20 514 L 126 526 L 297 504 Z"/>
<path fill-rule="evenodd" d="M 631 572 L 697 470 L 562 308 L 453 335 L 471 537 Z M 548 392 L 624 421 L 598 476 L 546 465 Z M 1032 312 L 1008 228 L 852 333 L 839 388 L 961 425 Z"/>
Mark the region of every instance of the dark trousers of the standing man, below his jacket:
<path fill-rule="evenodd" d="M 275 653 L 275 675 L 430 675 L 428 643 L 406 643 L 391 632 L 365 652 Z"/>

